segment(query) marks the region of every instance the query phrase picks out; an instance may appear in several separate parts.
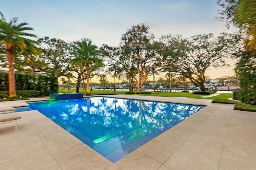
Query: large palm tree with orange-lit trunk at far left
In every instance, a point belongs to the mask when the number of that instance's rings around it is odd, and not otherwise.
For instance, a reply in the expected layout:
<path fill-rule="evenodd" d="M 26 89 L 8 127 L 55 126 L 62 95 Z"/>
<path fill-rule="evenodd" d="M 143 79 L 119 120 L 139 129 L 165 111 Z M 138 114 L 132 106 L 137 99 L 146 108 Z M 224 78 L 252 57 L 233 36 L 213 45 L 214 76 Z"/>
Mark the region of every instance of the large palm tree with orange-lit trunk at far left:
<path fill-rule="evenodd" d="M 24 31 L 34 30 L 27 27 L 27 22 L 17 23 L 18 18 L 14 17 L 10 22 L 6 22 L 4 15 L 0 12 L 0 45 L 7 51 L 9 66 L 9 97 L 16 97 L 15 76 L 14 76 L 14 57 L 18 53 L 38 54 L 39 50 L 35 46 L 36 41 L 27 39 L 26 37 L 34 37 L 36 35 L 26 33 Z"/>

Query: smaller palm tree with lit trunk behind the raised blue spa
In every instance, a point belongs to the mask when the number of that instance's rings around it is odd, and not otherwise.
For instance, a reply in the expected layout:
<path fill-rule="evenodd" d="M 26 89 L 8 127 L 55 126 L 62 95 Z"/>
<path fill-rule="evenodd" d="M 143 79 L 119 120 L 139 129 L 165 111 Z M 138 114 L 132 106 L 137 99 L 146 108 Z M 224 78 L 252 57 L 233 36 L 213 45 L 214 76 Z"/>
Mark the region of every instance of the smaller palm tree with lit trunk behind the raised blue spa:
<path fill-rule="evenodd" d="M 74 59 L 74 63 L 86 63 L 86 94 L 90 94 L 90 66 L 92 64 L 94 66 L 102 66 L 102 59 L 99 59 L 100 51 L 97 50 L 96 45 L 92 45 L 92 41 L 89 39 L 82 39 L 81 41 L 76 42 L 74 46 L 74 53 L 78 57 Z"/>

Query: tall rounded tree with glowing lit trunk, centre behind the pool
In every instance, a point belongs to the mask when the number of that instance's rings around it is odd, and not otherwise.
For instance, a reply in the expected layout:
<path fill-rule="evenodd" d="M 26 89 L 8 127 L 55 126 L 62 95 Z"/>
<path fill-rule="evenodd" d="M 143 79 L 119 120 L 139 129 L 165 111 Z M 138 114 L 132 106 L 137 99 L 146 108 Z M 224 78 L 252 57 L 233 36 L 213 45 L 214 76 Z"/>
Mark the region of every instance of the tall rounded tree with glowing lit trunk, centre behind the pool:
<path fill-rule="evenodd" d="M 153 67 L 159 67 L 163 57 L 156 53 L 154 35 L 149 31 L 148 25 L 134 25 L 122 35 L 120 48 L 122 50 L 120 63 L 126 73 L 136 69 L 132 78 L 136 81 L 136 91 L 142 90 Z M 135 70 L 134 70 L 135 71 Z"/>

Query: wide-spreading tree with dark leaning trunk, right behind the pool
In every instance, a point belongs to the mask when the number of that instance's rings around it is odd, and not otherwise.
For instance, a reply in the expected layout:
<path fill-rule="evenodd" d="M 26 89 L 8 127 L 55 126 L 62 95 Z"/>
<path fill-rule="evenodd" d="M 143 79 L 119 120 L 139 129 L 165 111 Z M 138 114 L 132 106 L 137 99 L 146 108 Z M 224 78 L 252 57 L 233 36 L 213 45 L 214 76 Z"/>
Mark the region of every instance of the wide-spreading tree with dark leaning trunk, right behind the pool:
<path fill-rule="evenodd" d="M 181 37 L 166 37 L 166 49 L 168 49 L 170 65 L 176 72 L 179 72 L 185 78 L 205 91 L 204 82 L 205 72 L 210 67 L 225 66 L 225 58 L 230 57 L 236 50 L 236 39 L 233 35 L 222 33 L 214 38 L 213 34 L 194 35 L 190 39 L 181 39 Z M 176 50 L 178 49 L 178 50 Z M 166 66 L 168 68 L 168 65 Z"/>

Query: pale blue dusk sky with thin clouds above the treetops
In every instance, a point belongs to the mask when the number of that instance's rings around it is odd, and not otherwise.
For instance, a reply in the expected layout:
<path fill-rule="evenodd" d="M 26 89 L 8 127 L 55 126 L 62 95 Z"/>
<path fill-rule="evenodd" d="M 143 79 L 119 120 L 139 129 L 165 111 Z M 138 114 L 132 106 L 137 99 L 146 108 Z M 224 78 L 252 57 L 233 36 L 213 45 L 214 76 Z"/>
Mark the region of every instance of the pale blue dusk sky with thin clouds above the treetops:
<path fill-rule="evenodd" d="M 132 25 L 145 23 L 156 40 L 161 35 L 190 37 L 232 32 L 218 16 L 216 0 L 1 0 L 0 12 L 9 21 L 28 22 L 38 37 L 64 41 L 89 38 L 100 47 L 118 46 Z M 232 76 L 233 66 L 211 69 L 210 78 Z"/>

